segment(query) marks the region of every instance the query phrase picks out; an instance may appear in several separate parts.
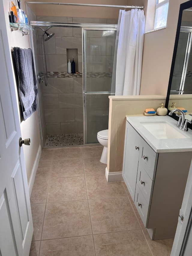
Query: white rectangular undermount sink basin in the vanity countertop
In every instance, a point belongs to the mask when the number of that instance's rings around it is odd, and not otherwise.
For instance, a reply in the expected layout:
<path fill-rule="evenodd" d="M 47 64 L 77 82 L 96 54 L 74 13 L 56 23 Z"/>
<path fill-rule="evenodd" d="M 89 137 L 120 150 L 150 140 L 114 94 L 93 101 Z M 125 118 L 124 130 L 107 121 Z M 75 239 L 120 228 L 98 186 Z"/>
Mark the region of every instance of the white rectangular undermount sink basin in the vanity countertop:
<path fill-rule="evenodd" d="M 142 125 L 156 138 L 156 139 L 182 139 L 186 137 L 179 128 L 173 128 L 166 122 L 142 122 Z"/>

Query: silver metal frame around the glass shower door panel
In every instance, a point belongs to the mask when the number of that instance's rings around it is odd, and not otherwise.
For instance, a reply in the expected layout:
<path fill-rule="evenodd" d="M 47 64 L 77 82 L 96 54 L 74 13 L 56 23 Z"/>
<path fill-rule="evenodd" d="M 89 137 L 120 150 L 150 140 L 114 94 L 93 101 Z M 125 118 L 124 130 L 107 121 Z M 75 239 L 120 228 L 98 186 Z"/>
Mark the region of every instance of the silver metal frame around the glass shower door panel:
<path fill-rule="evenodd" d="M 104 24 L 102 24 L 104 25 Z M 107 25 L 107 24 L 106 24 Z M 87 143 L 87 101 L 85 99 L 86 95 L 104 95 L 108 94 L 111 95 L 111 92 L 87 92 L 87 42 L 86 42 L 86 31 L 87 30 L 110 30 L 110 31 L 117 31 L 117 25 L 114 25 L 113 28 L 109 27 L 102 27 L 102 28 L 96 28 L 96 27 L 89 27 L 89 28 L 82 28 L 82 65 L 83 65 L 83 145 L 94 145 L 96 143 Z"/>

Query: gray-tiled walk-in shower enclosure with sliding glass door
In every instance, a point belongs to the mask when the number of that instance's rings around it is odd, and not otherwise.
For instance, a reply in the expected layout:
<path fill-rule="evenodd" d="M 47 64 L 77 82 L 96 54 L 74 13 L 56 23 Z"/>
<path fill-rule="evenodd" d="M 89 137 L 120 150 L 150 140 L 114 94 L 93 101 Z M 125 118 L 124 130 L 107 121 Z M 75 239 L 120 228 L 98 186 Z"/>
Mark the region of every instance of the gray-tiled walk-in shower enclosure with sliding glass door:
<path fill-rule="evenodd" d="M 41 18 L 41 17 L 40 17 Z M 44 147 L 98 143 L 108 129 L 116 25 L 31 21 L 39 83 L 40 129 Z M 41 27 L 41 29 L 38 29 Z M 50 35 L 41 46 L 42 29 Z M 46 33 L 45 33 L 46 34 Z M 45 35 L 46 38 L 46 35 Z M 43 44 L 42 44 L 43 45 Z M 48 83 L 42 83 L 45 49 Z M 67 73 L 75 60 L 76 73 Z"/>

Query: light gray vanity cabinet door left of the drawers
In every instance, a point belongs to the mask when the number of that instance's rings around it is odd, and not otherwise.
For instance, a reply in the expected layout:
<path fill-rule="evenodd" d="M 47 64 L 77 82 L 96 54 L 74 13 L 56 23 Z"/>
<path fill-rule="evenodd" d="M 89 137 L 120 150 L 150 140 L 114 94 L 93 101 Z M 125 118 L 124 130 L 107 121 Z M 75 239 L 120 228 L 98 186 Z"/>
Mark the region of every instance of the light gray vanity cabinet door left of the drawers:
<path fill-rule="evenodd" d="M 142 148 L 140 135 L 128 122 L 126 122 L 122 176 L 133 201 L 135 197 L 135 187 L 137 182 L 139 154 L 141 151 Z"/>

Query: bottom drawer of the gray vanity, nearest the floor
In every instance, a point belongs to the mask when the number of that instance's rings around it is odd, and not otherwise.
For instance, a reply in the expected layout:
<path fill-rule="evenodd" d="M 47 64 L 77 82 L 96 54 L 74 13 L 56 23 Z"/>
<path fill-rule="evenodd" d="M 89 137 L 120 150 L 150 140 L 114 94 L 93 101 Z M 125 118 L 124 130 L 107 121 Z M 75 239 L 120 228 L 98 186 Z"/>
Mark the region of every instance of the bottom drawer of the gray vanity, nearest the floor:
<path fill-rule="evenodd" d="M 149 220 L 150 206 L 147 203 L 147 201 L 145 200 L 145 197 L 141 193 L 140 188 L 138 187 L 138 185 L 136 185 L 134 203 L 135 203 L 137 211 L 139 212 L 139 215 L 140 215 L 140 217 L 143 221 L 143 224 L 145 225 L 145 227 L 147 227 L 148 226 L 148 220 Z"/>

